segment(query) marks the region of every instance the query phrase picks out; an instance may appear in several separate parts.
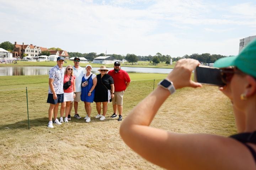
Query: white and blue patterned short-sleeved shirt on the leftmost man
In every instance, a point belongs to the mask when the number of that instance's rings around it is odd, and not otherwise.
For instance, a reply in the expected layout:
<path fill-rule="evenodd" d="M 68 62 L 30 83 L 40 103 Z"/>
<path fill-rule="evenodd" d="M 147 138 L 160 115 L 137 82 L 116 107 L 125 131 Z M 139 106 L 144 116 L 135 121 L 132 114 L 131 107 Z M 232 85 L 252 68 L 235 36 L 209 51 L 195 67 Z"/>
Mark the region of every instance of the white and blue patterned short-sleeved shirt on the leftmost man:
<path fill-rule="evenodd" d="M 64 80 L 65 69 L 59 68 L 59 66 L 54 66 L 49 70 L 49 79 L 53 79 L 53 87 L 56 94 L 63 94 L 63 80 Z M 53 94 L 52 90 L 48 90 L 48 94 Z"/>

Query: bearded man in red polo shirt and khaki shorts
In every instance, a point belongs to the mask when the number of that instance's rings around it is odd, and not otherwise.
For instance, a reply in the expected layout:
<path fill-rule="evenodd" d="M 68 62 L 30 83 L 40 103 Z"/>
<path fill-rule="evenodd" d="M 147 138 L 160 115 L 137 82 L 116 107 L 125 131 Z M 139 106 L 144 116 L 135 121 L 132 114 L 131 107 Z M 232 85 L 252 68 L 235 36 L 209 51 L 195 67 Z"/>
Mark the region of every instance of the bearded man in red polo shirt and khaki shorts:
<path fill-rule="evenodd" d="M 123 95 L 124 91 L 126 91 L 127 87 L 130 84 L 130 77 L 128 73 L 124 70 L 121 70 L 121 64 L 119 61 L 114 62 L 114 69 L 108 72 L 114 80 L 114 98 L 112 98 L 113 103 L 113 115 L 111 118 L 117 117 L 117 110 L 119 113 L 118 121 L 123 119 L 122 112 L 123 112 Z"/>

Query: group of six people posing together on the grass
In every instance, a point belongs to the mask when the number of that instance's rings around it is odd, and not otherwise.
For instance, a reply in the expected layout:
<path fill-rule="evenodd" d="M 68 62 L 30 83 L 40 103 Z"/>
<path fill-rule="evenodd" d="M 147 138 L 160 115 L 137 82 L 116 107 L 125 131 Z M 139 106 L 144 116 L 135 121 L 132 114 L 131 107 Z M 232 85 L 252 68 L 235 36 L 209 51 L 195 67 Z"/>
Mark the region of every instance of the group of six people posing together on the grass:
<path fill-rule="evenodd" d="M 74 58 L 74 66 L 68 65 L 63 68 L 64 57 L 57 58 L 57 66 L 49 70 L 49 90 L 47 103 L 50 103 L 48 110 L 48 128 L 53 128 L 53 123 L 61 125 L 71 120 L 71 110 L 74 105 L 74 118 L 81 119 L 78 114 L 78 102 L 83 101 L 86 111 L 85 121 L 91 121 L 91 103 L 96 103 L 97 115 L 95 118 L 106 119 L 107 103 L 112 102 L 113 114 L 111 118 L 117 117 L 122 120 L 123 95 L 130 84 L 130 77 L 127 72 L 121 69 L 119 61 L 114 62 L 114 69 L 108 72 L 106 66 L 101 66 L 95 75 L 91 72 L 92 66 L 88 64 L 84 69 L 79 66 L 80 58 Z M 59 103 L 60 119 L 57 119 Z M 102 114 L 101 114 L 102 103 Z M 65 118 L 63 115 L 65 111 Z M 52 117 L 53 120 L 52 120 Z"/>

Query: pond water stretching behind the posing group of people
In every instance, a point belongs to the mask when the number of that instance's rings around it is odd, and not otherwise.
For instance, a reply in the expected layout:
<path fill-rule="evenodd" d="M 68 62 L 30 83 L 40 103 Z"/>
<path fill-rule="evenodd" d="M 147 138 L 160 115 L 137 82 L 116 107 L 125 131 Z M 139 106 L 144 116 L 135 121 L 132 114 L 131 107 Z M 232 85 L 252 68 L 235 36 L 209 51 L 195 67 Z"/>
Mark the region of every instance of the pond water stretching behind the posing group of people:
<path fill-rule="evenodd" d="M 46 75 L 52 67 L 0 67 L 0 76 L 6 75 Z M 65 68 L 65 67 L 64 67 Z M 99 67 L 92 68 L 92 73 L 98 74 Z M 108 68 L 109 70 L 113 68 Z M 170 73 L 168 68 L 142 68 L 142 67 L 122 67 L 128 73 Z M 84 72 L 86 72 L 84 68 Z"/>

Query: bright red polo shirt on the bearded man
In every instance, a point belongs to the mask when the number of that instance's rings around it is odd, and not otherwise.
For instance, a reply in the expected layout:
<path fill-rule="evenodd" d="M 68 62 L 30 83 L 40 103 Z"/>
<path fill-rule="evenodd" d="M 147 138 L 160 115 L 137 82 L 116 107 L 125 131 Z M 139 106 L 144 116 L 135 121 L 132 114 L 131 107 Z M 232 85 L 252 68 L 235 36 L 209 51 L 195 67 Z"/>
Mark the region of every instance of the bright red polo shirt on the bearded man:
<path fill-rule="evenodd" d="M 123 91 L 126 90 L 126 83 L 130 82 L 130 77 L 128 73 L 122 69 L 119 72 L 115 72 L 114 69 L 108 72 L 109 75 L 114 80 L 115 91 Z"/>

